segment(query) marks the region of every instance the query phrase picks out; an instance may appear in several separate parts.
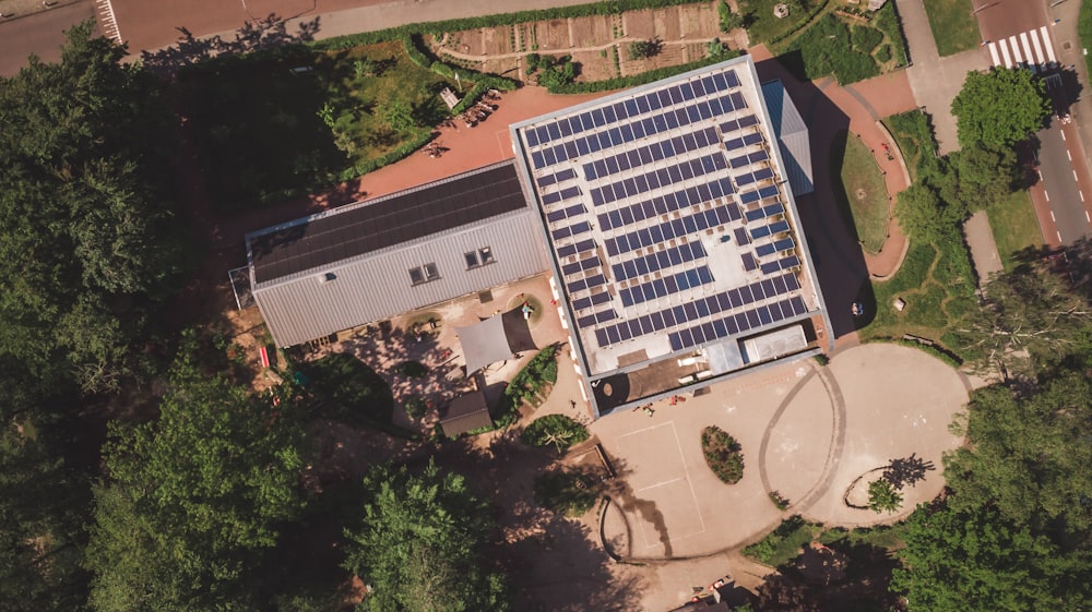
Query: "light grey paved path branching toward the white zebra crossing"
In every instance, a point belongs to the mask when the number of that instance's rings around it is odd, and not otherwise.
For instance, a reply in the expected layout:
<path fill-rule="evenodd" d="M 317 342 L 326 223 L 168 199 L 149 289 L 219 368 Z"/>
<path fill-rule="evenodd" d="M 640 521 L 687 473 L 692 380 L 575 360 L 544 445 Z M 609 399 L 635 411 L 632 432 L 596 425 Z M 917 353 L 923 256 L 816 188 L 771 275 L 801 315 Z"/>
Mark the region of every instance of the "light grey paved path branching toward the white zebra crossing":
<path fill-rule="evenodd" d="M 895 0 L 895 3 L 910 46 L 911 67 L 906 70 L 910 86 L 917 105 L 933 116 L 939 153 L 946 155 L 959 148 L 952 100 L 963 88 L 969 71 L 989 68 L 989 55 L 985 48 L 977 48 L 941 58 L 923 0 Z"/>

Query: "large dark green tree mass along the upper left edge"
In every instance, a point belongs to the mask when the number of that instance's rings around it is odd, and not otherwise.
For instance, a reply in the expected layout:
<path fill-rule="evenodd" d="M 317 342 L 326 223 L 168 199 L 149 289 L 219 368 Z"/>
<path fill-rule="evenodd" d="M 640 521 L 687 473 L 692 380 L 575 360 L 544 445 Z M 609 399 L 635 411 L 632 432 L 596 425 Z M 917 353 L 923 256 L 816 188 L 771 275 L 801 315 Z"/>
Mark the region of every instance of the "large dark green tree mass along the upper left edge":
<path fill-rule="evenodd" d="M 0 79 L 0 360 L 47 395 L 138 370 L 130 347 L 178 267 L 161 85 L 93 26 L 60 63 Z"/>

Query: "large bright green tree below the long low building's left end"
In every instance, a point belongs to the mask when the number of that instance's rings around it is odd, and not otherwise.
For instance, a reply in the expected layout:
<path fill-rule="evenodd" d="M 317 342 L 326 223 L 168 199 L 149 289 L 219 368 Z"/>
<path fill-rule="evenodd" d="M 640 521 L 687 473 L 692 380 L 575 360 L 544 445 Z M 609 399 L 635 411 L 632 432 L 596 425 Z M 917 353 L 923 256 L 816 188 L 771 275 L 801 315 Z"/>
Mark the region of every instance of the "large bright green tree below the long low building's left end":
<path fill-rule="evenodd" d="M 87 567 L 99 611 L 248 609 L 247 576 L 302 506 L 299 401 L 249 395 L 187 338 L 159 418 L 111 424 Z"/>

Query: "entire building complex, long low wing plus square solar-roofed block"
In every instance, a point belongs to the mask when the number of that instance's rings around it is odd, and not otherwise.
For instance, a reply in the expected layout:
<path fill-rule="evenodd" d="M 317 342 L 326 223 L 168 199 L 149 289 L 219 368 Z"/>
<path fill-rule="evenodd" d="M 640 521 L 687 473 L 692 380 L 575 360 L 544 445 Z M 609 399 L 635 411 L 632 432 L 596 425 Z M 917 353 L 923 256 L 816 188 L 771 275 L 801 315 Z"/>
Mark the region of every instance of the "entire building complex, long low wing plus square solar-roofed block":
<path fill-rule="evenodd" d="M 744 56 L 511 127 L 515 160 L 247 236 L 292 346 L 549 272 L 602 416 L 832 341 L 807 128 Z"/>

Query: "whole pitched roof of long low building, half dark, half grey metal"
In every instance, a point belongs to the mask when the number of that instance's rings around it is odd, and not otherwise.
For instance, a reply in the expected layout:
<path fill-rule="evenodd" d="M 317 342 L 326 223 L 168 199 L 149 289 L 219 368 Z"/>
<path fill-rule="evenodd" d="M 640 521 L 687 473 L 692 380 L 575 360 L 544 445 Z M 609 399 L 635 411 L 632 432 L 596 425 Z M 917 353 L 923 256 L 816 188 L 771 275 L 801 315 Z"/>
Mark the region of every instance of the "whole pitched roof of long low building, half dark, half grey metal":
<path fill-rule="evenodd" d="M 248 236 L 252 278 L 266 274 L 253 297 L 274 341 L 298 345 L 545 272 L 514 176 L 506 161 Z M 293 231 L 313 239 L 286 242 Z M 491 261 L 468 267 L 466 254 L 482 249 Z M 429 264 L 436 275 L 415 283 L 410 271 Z"/>

